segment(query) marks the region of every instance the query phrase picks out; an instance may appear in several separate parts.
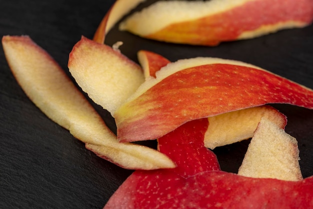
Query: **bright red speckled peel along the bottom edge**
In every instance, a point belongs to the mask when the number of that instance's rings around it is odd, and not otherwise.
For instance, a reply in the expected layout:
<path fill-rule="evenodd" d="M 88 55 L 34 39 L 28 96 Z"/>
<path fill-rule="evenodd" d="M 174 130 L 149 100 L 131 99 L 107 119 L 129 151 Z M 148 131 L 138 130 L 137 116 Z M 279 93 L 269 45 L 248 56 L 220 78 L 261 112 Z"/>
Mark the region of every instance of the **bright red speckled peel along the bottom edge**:
<path fill-rule="evenodd" d="M 312 186 L 313 176 L 284 181 L 205 171 L 182 178 L 136 170 L 103 208 L 311 208 Z"/>

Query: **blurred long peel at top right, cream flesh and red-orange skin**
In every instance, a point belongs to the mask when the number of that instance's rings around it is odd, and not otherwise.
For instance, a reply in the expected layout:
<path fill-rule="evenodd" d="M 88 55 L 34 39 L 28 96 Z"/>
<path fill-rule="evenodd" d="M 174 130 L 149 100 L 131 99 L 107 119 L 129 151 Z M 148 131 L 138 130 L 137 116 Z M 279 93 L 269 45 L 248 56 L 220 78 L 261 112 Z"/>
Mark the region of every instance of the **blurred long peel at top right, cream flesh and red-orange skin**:
<path fill-rule="evenodd" d="M 304 27 L 312 19 L 311 0 L 171 0 L 135 12 L 119 28 L 160 41 L 217 45 Z"/>

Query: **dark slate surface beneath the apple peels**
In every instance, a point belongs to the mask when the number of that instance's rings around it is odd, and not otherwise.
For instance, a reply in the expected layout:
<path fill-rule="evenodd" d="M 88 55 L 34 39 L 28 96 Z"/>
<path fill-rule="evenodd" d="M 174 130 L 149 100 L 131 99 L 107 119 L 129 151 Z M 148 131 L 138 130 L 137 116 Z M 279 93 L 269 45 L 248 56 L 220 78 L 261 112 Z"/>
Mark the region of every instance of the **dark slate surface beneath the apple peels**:
<path fill-rule="evenodd" d="M 1 0 L 0 35 L 29 35 L 68 73 L 72 46 L 81 35 L 92 38 L 113 2 Z M 313 88 L 313 25 L 216 47 L 146 40 L 114 27 L 106 43 L 117 40 L 124 42 L 121 51 L 134 61 L 139 49 L 152 50 L 172 61 L 195 56 L 237 59 Z M 132 172 L 86 150 L 82 142 L 40 112 L 16 83 L 2 50 L 0 104 L 0 208 L 101 208 Z M 303 176 L 312 175 L 313 110 L 274 106 L 287 115 L 286 131 L 298 139 Z M 109 114 L 95 107 L 114 129 Z M 214 150 L 223 170 L 237 171 L 248 142 Z"/>

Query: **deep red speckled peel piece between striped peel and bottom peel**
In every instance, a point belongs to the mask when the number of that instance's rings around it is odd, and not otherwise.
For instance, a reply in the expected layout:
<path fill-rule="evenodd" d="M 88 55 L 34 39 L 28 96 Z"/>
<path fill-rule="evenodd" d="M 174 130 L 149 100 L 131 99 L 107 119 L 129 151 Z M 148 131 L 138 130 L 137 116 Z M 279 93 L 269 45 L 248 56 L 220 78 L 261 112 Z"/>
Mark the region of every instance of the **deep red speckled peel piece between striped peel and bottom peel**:
<path fill-rule="evenodd" d="M 207 126 L 207 118 L 192 120 L 158 139 L 158 150 L 177 165 L 168 170 L 183 178 L 199 172 L 220 170 L 215 154 L 204 147 Z"/>

